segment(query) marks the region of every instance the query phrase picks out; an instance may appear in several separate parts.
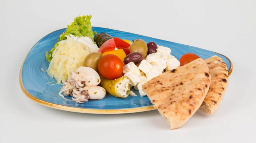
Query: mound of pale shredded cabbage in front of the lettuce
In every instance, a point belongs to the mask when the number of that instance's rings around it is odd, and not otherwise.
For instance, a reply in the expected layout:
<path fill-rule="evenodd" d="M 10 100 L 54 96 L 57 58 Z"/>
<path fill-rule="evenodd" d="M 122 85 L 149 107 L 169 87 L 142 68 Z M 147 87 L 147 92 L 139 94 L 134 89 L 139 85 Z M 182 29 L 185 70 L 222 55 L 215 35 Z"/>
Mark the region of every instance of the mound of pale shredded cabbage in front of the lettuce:
<path fill-rule="evenodd" d="M 68 80 L 72 71 L 83 66 L 83 61 L 91 52 L 88 46 L 77 39 L 66 37 L 67 39 L 60 41 L 54 50 L 47 70 L 48 75 L 54 77 L 58 84 Z"/>

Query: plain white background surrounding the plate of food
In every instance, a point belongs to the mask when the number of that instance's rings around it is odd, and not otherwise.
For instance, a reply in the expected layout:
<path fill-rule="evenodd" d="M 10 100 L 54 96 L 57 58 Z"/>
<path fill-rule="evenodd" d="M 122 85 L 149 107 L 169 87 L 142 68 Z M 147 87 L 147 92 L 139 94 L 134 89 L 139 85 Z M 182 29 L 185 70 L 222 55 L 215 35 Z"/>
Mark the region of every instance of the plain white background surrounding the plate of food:
<path fill-rule="evenodd" d="M 0 142 L 256 142 L 255 0 L 0 0 Z M 234 70 L 217 112 L 198 111 L 170 130 L 157 111 L 96 115 L 60 111 L 27 98 L 19 70 L 43 36 L 78 15 L 92 25 L 216 51 Z"/>

